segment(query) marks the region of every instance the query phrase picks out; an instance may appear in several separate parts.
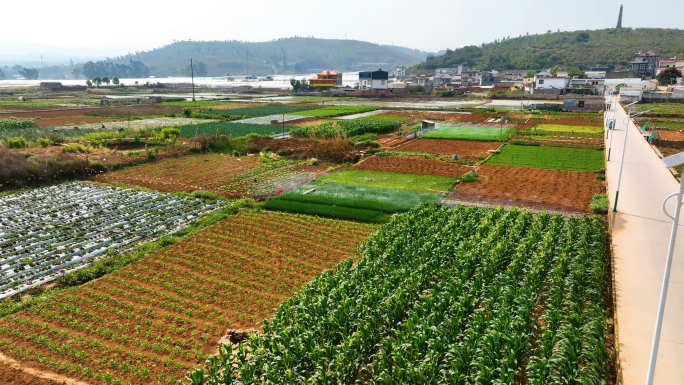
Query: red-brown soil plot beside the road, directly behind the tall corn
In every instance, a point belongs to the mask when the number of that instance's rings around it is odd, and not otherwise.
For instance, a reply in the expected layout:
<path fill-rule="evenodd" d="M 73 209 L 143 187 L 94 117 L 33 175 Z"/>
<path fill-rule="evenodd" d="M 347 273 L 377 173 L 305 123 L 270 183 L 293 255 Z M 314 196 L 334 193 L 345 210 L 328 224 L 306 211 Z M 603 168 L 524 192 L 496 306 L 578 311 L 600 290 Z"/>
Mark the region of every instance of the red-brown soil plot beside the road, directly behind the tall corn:
<path fill-rule="evenodd" d="M 598 174 L 483 165 L 480 181 L 460 183 L 450 198 L 554 210 L 589 212 L 594 194 L 601 193 Z"/>

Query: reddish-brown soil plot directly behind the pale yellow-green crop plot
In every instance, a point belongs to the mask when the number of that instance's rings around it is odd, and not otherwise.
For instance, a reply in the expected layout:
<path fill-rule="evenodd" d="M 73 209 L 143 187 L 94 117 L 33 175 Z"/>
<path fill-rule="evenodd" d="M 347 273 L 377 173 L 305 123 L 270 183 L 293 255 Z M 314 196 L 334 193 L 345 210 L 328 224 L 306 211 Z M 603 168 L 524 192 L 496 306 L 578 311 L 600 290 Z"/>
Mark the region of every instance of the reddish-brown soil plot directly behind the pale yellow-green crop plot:
<path fill-rule="evenodd" d="M 359 170 L 401 172 L 405 174 L 438 175 L 455 178 L 472 170 L 467 166 L 447 163 L 422 156 L 373 156 L 352 167 Z"/>

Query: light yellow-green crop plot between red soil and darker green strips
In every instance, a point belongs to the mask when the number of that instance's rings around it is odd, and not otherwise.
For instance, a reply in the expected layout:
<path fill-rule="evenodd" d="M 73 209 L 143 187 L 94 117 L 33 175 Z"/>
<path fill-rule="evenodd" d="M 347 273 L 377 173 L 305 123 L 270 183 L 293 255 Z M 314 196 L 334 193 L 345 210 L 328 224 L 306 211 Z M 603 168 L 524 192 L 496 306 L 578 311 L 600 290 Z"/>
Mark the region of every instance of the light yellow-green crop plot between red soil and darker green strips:
<path fill-rule="evenodd" d="M 402 174 L 398 172 L 356 169 L 345 169 L 333 172 L 316 179 L 316 181 L 427 193 L 444 193 L 445 191 L 450 190 L 454 183 L 456 183 L 456 179 L 454 178 L 436 175 Z"/>

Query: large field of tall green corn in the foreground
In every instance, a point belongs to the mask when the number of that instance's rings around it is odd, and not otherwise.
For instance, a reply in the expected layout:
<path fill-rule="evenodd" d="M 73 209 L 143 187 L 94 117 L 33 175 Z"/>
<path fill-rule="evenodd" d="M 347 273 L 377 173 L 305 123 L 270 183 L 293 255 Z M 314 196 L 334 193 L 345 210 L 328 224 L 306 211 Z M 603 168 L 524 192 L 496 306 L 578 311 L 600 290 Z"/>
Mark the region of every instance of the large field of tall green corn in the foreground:
<path fill-rule="evenodd" d="M 283 303 L 264 333 L 237 350 L 221 346 L 207 371 L 190 376 L 194 384 L 605 383 L 613 349 L 605 241 L 600 218 L 422 205 L 383 226 L 360 259 Z"/>

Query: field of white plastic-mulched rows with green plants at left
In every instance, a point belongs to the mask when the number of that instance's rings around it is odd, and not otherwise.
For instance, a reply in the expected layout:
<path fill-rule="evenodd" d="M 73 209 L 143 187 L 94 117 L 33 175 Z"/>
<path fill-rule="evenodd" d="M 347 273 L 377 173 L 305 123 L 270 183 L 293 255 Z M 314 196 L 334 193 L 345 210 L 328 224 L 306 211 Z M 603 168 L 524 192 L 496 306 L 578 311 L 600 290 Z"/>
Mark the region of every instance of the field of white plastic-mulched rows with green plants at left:
<path fill-rule="evenodd" d="M 172 234 L 214 205 L 85 183 L 0 197 L 0 298 Z"/>

